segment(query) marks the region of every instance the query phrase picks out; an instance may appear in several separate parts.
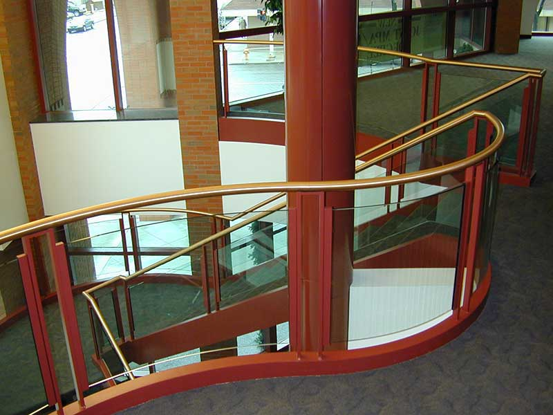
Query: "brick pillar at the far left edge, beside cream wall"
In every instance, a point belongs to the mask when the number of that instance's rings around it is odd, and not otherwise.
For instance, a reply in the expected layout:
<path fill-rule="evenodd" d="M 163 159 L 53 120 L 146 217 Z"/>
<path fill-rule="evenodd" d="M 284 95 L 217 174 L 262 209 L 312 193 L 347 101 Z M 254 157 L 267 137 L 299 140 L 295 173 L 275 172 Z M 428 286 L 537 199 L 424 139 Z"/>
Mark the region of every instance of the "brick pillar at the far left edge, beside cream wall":
<path fill-rule="evenodd" d="M 0 2 L 0 55 L 29 220 L 44 216 L 29 122 L 42 111 L 26 1 Z"/>

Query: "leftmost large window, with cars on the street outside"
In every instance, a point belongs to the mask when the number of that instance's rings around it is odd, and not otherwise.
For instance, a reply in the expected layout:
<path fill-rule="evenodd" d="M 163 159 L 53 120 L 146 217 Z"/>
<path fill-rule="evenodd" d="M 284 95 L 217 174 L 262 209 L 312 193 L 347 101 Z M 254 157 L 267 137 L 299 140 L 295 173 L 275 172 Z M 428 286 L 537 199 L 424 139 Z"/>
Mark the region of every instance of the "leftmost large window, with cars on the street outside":
<path fill-rule="evenodd" d="M 47 109 L 115 108 L 104 1 L 35 0 L 35 10 Z"/>

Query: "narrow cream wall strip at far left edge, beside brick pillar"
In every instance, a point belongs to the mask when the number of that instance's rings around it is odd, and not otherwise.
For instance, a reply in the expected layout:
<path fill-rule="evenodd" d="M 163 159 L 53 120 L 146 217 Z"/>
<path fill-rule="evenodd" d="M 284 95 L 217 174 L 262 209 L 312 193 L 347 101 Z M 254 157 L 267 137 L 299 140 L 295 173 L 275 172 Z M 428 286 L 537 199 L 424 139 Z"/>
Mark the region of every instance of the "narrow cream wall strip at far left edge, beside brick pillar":
<path fill-rule="evenodd" d="M 27 221 L 6 82 L 0 59 L 0 230 L 13 228 Z"/>

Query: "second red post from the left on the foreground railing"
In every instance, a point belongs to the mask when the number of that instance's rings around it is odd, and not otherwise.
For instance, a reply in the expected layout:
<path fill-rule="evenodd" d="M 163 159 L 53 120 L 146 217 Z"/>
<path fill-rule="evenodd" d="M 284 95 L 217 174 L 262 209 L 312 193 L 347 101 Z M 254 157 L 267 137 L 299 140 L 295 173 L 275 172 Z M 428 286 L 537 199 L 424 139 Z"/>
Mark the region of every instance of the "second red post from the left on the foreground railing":
<path fill-rule="evenodd" d="M 88 375 L 86 374 L 79 323 L 77 321 L 77 313 L 75 312 L 75 299 L 73 298 L 73 291 L 71 289 L 65 245 L 63 242 L 56 243 L 54 232 L 51 229 L 48 231 L 48 243 L 50 255 L 52 255 L 54 262 L 57 301 L 63 321 L 73 381 L 75 382 L 75 393 L 77 394 L 80 407 L 84 408 L 84 391 L 88 390 Z"/>

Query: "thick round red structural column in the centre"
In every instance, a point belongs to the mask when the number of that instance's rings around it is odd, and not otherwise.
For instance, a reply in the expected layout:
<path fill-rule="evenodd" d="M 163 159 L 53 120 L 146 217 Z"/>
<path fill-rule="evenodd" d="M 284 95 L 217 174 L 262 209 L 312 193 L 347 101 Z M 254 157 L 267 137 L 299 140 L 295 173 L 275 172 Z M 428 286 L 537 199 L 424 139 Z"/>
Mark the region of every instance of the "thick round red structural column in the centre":
<path fill-rule="evenodd" d="M 288 180 L 354 178 L 357 2 L 285 0 L 284 16 Z M 290 315 L 296 316 L 290 331 L 297 333 L 297 351 L 340 348 L 347 340 L 353 212 L 335 212 L 333 229 L 320 230 L 324 210 L 352 207 L 353 193 L 326 193 L 323 202 L 309 194 L 288 198 L 297 214 L 289 224 Z M 330 237 L 328 266 L 321 238 Z"/>

